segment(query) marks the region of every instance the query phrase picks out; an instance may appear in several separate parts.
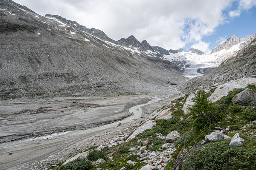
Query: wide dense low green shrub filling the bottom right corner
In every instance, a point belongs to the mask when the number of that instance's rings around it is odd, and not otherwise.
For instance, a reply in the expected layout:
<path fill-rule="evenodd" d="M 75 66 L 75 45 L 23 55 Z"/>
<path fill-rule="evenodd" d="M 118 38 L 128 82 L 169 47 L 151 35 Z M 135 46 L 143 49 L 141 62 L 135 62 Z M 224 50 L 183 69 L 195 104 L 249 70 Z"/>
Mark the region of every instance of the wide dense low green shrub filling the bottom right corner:
<path fill-rule="evenodd" d="M 230 147 L 229 141 L 213 142 L 192 150 L 184 161 L 183 170 L 253 170 L 256 150 Z"/>

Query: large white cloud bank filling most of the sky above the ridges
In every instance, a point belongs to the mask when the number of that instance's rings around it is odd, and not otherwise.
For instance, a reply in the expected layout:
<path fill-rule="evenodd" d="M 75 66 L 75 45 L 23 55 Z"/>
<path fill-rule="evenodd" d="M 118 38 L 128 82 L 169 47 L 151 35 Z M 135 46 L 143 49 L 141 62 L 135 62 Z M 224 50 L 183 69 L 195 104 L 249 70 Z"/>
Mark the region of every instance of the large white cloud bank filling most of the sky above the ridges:
<path fill-rule="evenodd" d="M 166 49 L 206 45 L 233 0 L 15 0 L 38 14 L 57 14 L 114 40 L 133 34 Z M 244 6 L 247 6 L 246 4 Z M 244 7 L 245 8 L 245 7 Z M 206 49 L 205 47 L 199 49 Z"/>

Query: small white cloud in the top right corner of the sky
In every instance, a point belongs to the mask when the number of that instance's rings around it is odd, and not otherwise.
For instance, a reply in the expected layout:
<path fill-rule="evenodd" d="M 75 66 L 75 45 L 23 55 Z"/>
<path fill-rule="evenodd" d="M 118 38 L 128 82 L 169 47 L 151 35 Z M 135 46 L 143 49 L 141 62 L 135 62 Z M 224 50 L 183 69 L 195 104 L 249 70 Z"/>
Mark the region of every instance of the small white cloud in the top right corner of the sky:
<path fill-rule="evenodd" d="M 240 0 L 237 10 L 230 11 L 229 15 L 230 17 L 239 17 L 241 14 L 241 11 L 249 10 L 253 6 L 256 6 L 256 0 Z"/>

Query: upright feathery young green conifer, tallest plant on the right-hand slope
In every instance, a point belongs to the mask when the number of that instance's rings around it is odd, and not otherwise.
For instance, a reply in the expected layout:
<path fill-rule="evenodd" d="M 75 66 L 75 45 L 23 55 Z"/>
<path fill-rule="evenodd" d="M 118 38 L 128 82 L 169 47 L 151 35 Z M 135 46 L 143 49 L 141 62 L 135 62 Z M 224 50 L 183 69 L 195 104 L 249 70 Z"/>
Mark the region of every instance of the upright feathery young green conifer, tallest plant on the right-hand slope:
<path fill-rule="evenodd" d="M 195 104 L 189 108 L 194 119 L 194 127 L 204 129 L 220 119 L 217 114 L 217 108 L 214 103 L 208 99 L 208 94 L 205 91 L 198 91 L 195 98 L 192 99 Z"/>

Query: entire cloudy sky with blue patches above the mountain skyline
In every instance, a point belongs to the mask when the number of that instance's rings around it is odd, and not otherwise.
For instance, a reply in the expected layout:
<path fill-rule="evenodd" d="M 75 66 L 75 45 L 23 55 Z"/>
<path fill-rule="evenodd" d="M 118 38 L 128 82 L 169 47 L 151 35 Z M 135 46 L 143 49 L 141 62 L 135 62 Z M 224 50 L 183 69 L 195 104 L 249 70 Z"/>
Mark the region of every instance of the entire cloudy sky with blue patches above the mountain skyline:
<path fill-rule="evenodd" d="M 14 0 L 40 15 L 59 15 L 113 40 L 134 35 L 166 49 L 206 54 L 231 35 L 256 33 L 256 0 Z"/>

